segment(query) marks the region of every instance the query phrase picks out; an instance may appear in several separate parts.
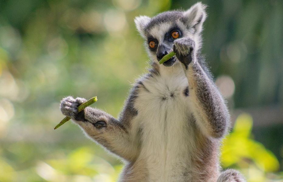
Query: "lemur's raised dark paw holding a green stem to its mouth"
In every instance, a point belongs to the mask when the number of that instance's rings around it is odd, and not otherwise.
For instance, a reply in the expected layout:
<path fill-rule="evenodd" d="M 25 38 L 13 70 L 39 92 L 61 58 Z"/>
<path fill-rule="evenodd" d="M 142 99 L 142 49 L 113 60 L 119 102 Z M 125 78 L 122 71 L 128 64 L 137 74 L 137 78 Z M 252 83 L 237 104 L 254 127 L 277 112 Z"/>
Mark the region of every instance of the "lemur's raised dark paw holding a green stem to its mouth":
<path fill-rule="evenodd" d="M 190 38 L 181 38 L 174 41 L 173 51 L 176 52 L 177 59 L 185 65 L 186 69 L 192 62 L 194 49 L 195 41 Z"/>

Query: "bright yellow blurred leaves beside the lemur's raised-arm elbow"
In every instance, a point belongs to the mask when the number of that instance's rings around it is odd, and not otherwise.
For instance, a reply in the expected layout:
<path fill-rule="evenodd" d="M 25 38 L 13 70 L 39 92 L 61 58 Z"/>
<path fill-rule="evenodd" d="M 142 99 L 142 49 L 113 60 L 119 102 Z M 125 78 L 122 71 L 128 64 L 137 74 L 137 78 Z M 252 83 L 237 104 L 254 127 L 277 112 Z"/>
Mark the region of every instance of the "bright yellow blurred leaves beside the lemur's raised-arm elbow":
<path fill-rule="evenodd" d="M 271 151 L 251 139 L 252 124 L 249 114 L 238 116 L 233 131 L 223 141 L 221 162 L 225 168 L 240 168 L 250 182 L 264 182 L 267 173 L 278 171 L 279 162 Z"/>

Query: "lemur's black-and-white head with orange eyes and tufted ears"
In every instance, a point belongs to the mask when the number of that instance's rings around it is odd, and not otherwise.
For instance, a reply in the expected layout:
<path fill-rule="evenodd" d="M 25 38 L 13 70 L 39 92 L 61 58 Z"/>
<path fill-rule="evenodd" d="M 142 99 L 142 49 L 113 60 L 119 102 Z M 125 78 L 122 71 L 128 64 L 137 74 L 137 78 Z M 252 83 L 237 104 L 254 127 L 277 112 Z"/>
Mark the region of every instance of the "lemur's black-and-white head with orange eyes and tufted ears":
<path fill-rule="evenodd" d="M 153 62 L 158 62 L 164 55 L 172 51 L 174 40 L 189 37 L 195 41 L 195 49 L 201 43 L 200 32 L 205 21 L 206 6 L 196 3 L 187 11 L 168 11 L 153 18 L 139 16 L 135 18 L 136 28 L 145 39 L 145 45 Z M 172 66 L 175 56 L 164 62 L 164 66 Z"/>

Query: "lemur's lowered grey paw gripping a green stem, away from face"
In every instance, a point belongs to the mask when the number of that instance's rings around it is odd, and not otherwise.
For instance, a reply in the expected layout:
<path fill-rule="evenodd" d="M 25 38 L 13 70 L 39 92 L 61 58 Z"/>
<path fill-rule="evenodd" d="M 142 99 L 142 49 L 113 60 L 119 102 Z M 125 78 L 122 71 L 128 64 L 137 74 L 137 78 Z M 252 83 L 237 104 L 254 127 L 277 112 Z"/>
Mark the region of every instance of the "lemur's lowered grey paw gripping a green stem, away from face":
<path fill-rule="evenodd" d="M 62 99 L 60 104 L 61 112 L 65 116 L 69 116 L 72 119 L 75 119 L 78 114 L 78 106 L 86 102 L 86 99 L 77 97 L 74 99 L 72 96 L 65 97 Z"/>

